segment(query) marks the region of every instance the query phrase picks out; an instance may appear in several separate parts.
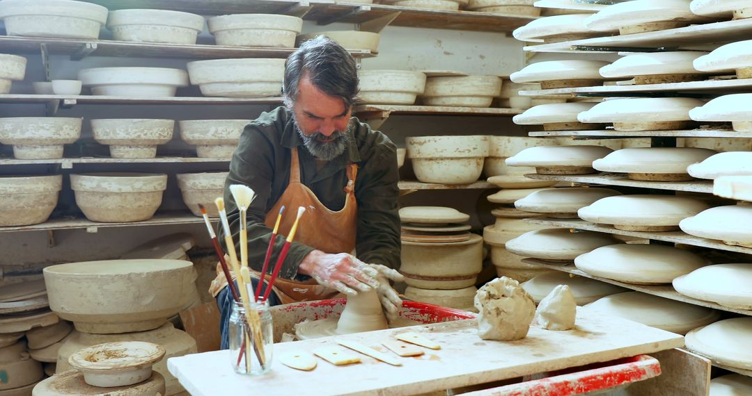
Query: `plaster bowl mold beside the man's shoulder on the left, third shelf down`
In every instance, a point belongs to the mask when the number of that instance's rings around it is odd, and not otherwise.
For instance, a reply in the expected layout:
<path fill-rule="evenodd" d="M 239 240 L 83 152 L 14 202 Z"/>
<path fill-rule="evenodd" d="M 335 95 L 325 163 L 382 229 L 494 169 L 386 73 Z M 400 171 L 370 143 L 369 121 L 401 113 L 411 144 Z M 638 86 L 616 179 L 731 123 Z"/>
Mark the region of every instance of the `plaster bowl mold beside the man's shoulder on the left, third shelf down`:
<path fill-rule="evenodd" d="M 184 120 L 177 121 L 180 139 L 196 145 L 196 155 L 208 158 L 232 157 L 240 135 L 250 120 Z"/>

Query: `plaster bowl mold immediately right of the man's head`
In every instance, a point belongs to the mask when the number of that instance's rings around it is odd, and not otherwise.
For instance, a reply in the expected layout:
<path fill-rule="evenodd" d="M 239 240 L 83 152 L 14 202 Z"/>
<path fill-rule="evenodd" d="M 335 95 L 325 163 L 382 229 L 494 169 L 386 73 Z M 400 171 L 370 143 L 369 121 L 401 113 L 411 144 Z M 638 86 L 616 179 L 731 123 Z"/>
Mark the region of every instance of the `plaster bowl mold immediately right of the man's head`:
<path fill-rule="evenodd" d="M 366 104 L 414 104 L 426 89 L 426 74 L 419 71 L 358 71 L 359 101 Z"/>

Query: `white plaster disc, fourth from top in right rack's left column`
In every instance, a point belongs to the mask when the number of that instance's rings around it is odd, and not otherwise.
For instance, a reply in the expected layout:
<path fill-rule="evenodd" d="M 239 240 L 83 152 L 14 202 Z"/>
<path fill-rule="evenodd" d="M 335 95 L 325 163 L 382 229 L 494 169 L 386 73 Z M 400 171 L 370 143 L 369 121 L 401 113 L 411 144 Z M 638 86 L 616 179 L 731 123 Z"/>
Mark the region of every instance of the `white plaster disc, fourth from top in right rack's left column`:
<path fill-rule="evenodd" d="M 544 145 L 526 148 L 507 158 L 507 165 L 535 166 L 541 175 L 586 175 L 595 172 L 593 160 L 611 151 L 602 145 Z"/>

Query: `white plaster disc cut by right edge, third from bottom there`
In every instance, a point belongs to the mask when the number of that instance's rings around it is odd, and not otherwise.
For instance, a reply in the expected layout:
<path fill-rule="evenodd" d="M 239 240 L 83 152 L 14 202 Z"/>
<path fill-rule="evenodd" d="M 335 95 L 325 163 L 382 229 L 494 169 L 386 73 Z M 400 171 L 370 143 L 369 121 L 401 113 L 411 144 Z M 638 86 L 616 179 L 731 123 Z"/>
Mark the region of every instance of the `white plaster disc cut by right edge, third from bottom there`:
<path fill-rule="evenodd" d="M 684 296 L 726 307 L 752 309 L 752 263 L 703 267 L 676 278 L 673 284 Z"/>

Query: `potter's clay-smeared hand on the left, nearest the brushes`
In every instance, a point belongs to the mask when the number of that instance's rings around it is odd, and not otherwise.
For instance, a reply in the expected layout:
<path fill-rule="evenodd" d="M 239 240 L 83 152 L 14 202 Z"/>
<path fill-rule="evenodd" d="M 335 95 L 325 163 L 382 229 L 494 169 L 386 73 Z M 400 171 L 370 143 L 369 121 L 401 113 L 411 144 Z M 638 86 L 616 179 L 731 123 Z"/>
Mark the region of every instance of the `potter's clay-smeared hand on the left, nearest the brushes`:
<path fill-rule="evenodd" d="M 318 284 L 350 296 L 379 287 L 375 278 L 378 272 L 347 253 L 312 251 L 298 269 L 301 274 L 310 275 Z"/>

